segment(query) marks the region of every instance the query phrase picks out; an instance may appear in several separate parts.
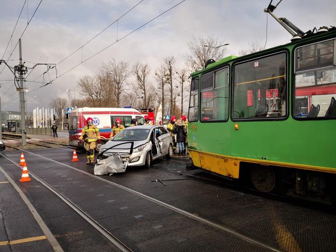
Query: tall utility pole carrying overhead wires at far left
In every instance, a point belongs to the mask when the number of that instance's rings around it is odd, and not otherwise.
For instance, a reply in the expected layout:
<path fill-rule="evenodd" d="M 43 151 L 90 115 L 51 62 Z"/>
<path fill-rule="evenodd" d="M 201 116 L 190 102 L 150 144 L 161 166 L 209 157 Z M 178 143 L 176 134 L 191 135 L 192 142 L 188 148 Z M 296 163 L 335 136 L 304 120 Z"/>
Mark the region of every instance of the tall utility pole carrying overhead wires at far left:
<path fill-rule="evenodd" d="M 22 135 L 22 145 L 26 145 L 26 108 L 24 100 L 24 78 L 23 74 L 26 72 L 24 70 L 24 65 L 22 63 L 22 50 L 21 50 L 21 38 L 19 38 L 19 56 L 20 56 L 20 65 L 18 67 L 20 73 L 20 109 L 21 109 L 21 135 Z"/>

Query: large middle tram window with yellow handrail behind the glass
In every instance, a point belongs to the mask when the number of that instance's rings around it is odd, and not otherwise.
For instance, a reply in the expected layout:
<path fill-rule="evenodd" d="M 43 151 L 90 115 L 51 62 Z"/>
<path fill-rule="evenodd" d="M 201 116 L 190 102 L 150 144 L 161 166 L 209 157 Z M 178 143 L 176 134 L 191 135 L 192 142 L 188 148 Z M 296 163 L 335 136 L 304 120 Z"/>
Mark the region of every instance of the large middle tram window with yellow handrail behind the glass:
<path fill-rule="evenodd" d="M 233 119 L 286 116 L 286 62 L 280 53 L 234 66 Z"/>

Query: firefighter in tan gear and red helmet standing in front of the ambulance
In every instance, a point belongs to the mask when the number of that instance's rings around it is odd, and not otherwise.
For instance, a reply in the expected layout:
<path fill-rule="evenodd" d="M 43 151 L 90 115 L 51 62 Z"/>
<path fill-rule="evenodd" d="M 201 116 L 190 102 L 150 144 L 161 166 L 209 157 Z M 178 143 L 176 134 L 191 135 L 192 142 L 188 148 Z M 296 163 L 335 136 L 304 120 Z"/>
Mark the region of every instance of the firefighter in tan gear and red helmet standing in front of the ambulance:
<path fill-rule="evenodd" d="M 95 162 L 96 142 L 100 144 L 100 135 L 99 129 L 93 124 L 93 119 L 91 117 L 87 119 L 87 123 L 88 125 L 85 125 L 81 132 L 79 142 L 81 143 L 84 140 L 84 146 L 87 150 L 87 164 L 90 164 Z"/>

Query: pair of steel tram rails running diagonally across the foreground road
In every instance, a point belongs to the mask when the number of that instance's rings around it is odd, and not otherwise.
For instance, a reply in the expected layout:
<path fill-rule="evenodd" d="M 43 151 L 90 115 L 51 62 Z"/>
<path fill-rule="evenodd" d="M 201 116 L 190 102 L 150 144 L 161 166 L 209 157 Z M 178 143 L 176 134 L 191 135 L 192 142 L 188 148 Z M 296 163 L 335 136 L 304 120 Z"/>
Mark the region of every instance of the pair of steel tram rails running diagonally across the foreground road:
<path fill-rule="evenodd" d="M 229 227 L 226 227 L 224 225 L 221 225 L 221 224 L 218 224 L 218 223 L 215 223 L 215 222 L 212 222 L 212 221 L 209 221 L 207 219 L 204 219 L 202 217 L 199 217 L 198 215 L 195 215 L 195 214 L 192 214 L 192 213 L 188 213 L 186 211 L 184 211 L 183 209 L 181 208 L 178 208 L 178 207 L 175 207 L 171 204 L 168 204 L 168 203 L 165 203 L 163 201 L 160 201 L 160 200 L 157 200 L 153 197 L 150 197 L 148 195 L 145 195 L 139 191 L 136 191 L 136 190 L 133 190 L 133 189 L 130 189 L 128 187 L 125 187 L 123 185 L 120 185 L 120 184 L 117 184 L 117 183 L 114 183 L 110 180 L 106 180 L 102 177 L 97 177 L 91 173 L 88 173 L 88 172 L 85 172 L 85 171 L 82 171 L 82 170 L 79 170 L 73 166 L 70 166 L 70 165 L 67 165 L 65 163 L 62 163 L 62 162 L 59 162 L 57 160 L 54 160 L 54 159 L 51 159 L 51 158 L 48 158 L 48 157 L 45 157 L 45 156 L 41 156 L 39 154 L 36 154 L 36 153 L 33 153 L 33 152 L 30 152 L 30 151 L 27 151 L 27 150 L 22 150 L 23 152 L 26 152 L 26 153 L 29 153 L 31 155 L 34 155 L 38 158 L 41 158 L 41 159 L 45 159 L 45 160 L 48 160 L 48 161 L 51 161 L 51 162 L 54 162 L 54 163 L 57 163 L 58 165 L 62 165 L 63 167 L 67 167 L 68 169 L 71 169 L 71 170 L 74 170 L 76 172 L 79 172 L 79 173 L 82 173 L 82 174 L 85 174 L 91 178 L 94 178 L 96 180 L 100 180 L 100 181 L 103 181 L 105 182 L 106 184 L 109 184 L 109 185 L 112 185 L 118 189 L 121 189 L 121 190 L 124 190 L 124 191 L 127 191 L 127 192 L 130 192 L 132 194 L 135 194 L 137 196 L 140 196 L 144 199 L 147 199 L 149 201 L 152 201 L 152 202 L 155 202 L 156 204 L 158 205 L 161 205 L 167 209 L 170 209 L 178 214 L 182 214 L 184 216 L 187 216 L 191 219 L 194 219 L 202 224 L 206 224 L 212 228 L 217 228 L 221 231 L 224 231 L 224 232 L 227 232 L 233 236 L 235 236 L 236 238 L 238 239 L 241 239 L 242 241 L 244 242 L 248 242 L 248 243 L 252 243 L 254 245 L 257 245 L 258 247 L 260 248 L 263 248 L 263 249 L 266 249 L 266 250 L 269 250 L 269 251 L 279 251 L 277 248 L 274 248 L 272 246 L 269 246 L 265 243 L 262 243 L 258 240 L 255 240 L 253 238 L 250 238 L 248 236 L 245 236 L 239 232 L 236 232 L 234 230 L 232 230 L 231 228 Z M 7 158 L 5 155 L 1 154 L 0 155 L 4 156 L 6 159 L 8 159 L 9 161 L 11 161 L 12 163 L 16 164 L 16 162 L 12 161 L 11 159 Z M 17 165 L 17 164 L 16 164 Z M 165 169 L 166 170 L 166 169 Z M 52 191 L 57 197 L 61 198 L 65 203 L 67 203 L 71 208 L 73 208 L 80 216 L 82 216 L 83 218 L 85 218 L 85 220 L 90 223 L 93 227 L 95 227 L 101 234 L 103 234 L 106 238 L 108 238 L 111 242 L 113 242 L 113 244 L 115 244 L 116 246 L 118 246 L 121 250 L 123 251 L 129 251 L 130 248 L 123 244 L 121 241 L 119 241 L 113 234 L 111 234 L 110 232 L 108 232 L 108 230 L 106 230 L 104 228 L 104 226 L 102 226 L 103 224 L 99 224 L 96 220 L 94 220 L 93 218 L 91 218 L 87 212 L 83 211 L 82 209 L 80 209 L 79 206 L 77 206 L 76 204 L 74 204 L 71 199 L 67 198 L 66 196 L 62 195 L 60 192 L 58 192 L 55 188 L 53 188 L 50 184 L 48 184 L 45 180 L 39 178 L 36 174 L 32 173 L 31 171 L 29 171 L 29 174 L 32 175 L 32 177 L 36 180 L 38 180 L 40 183 L 42 183 L 44 186 L 46 186 L 50 191 Z"/>

